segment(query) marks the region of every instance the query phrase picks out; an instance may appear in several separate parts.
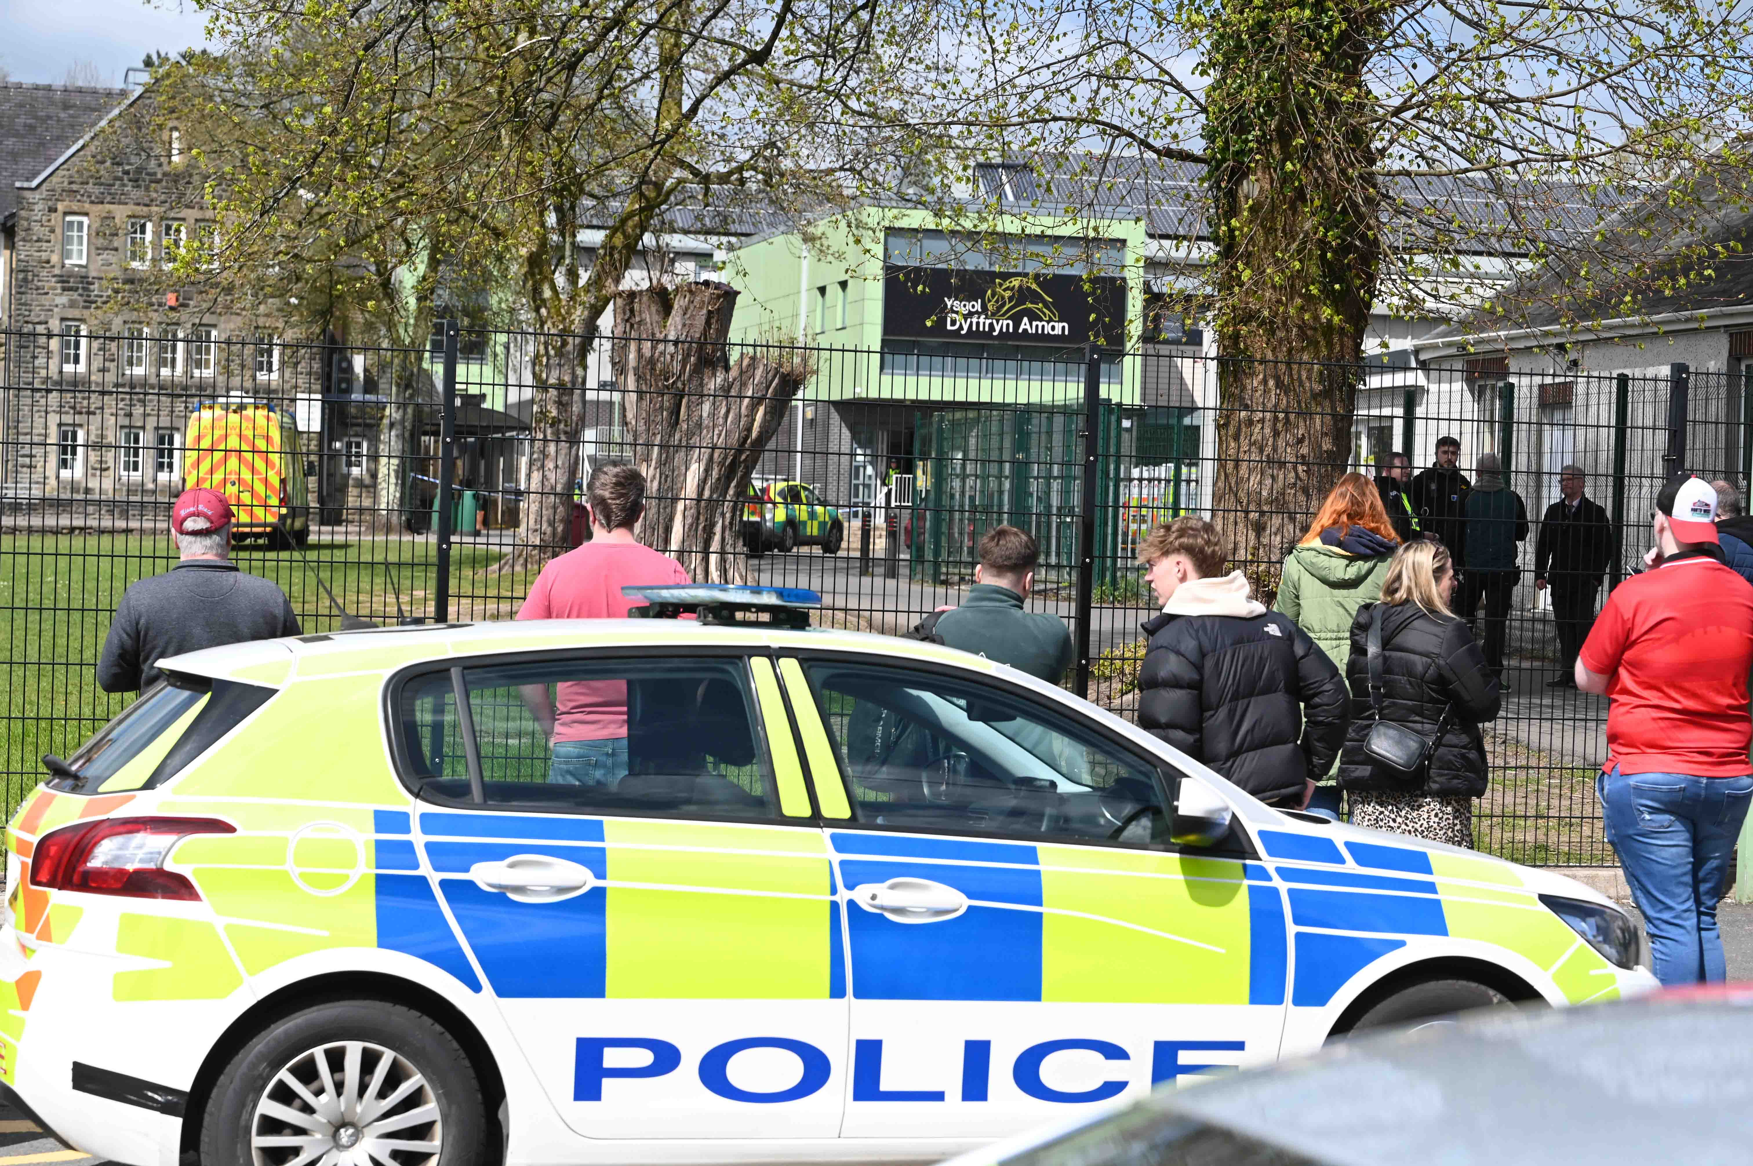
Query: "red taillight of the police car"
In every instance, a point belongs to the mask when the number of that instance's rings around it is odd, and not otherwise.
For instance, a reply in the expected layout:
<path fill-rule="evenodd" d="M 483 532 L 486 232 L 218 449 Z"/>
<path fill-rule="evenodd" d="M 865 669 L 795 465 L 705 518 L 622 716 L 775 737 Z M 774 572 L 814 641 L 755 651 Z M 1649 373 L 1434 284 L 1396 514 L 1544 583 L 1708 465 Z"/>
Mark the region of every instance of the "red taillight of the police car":
<path fill-rule="evenodd" d="M 200 899 L 195 884 L 165 870 L 189 835 L 231 835 L 210 817 L 110 817 L 63 826 L 37 840 L 30 882 L 44 891 L 123 894 L 137 899 Z"/>

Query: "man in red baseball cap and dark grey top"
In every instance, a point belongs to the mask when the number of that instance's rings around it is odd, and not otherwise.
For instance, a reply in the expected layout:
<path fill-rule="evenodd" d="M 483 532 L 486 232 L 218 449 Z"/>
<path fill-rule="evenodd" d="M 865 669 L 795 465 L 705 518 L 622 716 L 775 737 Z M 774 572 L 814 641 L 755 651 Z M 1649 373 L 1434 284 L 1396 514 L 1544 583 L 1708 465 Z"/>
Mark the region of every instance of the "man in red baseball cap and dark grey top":
<path fill-rule="evenodd" d="M 217 489 L 186 489 L 170 508 L 181 561 L 128 587 L 116 607 L 98 687 L 137 693 L 160 680 L 160 659 L 221 643 L 300 633 L 286 593 L 231 563 L 231 503 Z"/>

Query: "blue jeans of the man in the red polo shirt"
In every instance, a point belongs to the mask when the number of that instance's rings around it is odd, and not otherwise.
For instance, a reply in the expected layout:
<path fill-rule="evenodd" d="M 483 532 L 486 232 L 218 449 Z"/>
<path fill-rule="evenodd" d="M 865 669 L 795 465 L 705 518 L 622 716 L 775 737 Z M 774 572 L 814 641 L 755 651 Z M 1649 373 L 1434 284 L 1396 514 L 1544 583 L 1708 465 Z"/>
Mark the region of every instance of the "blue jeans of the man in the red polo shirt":
<path fill-rule="evenodd" d="M 1608 842 L 1644 915 L 1655 978 L 1716 984 L 1727 975 L 1716 901 L 1728 878 L 1753 777 L 1602 773 L 1595 779 Z"/>

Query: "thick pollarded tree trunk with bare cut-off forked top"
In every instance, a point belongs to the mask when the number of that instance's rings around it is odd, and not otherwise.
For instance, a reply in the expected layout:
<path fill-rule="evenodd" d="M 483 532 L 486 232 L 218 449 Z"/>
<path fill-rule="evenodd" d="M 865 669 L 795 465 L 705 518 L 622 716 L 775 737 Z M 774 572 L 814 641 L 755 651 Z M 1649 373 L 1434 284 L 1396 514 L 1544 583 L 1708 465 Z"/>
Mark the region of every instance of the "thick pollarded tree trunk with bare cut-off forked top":
<path fill-rule="evenodd" d="M 719 282 L 615 295 L 615 384 L 645 473 L 640 540 L 696 582 L 747 582 L 738 537 L 749 475 L 810 375 L 803 352 L 731 359 L 736 291 Z"/>

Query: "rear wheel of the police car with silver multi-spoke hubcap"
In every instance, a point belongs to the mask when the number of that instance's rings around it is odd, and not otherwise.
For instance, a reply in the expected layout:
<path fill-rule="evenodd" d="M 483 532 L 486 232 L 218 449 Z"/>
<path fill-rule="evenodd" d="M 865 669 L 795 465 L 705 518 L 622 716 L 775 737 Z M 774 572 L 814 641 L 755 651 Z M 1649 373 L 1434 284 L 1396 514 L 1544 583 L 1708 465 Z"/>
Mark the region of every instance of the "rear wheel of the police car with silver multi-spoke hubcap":
<path fill-rule="evenodd" d="M 468 1056 L 429 1017 L 382 1001 L 317 1005 L 270 1026 L 219 1075 L 205 1119 L 207 1162 L 489 1161 Z"/>

